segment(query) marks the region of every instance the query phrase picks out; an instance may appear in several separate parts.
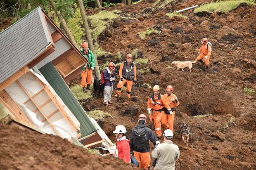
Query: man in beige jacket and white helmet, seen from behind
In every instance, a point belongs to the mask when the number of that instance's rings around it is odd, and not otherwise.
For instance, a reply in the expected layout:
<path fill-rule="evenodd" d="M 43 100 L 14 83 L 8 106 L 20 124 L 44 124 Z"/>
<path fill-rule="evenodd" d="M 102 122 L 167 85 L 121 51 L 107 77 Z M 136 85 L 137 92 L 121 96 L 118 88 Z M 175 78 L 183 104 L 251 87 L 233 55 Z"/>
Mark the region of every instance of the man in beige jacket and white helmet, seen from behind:
<path fill-rule="evenodd" d="M 180 157 L 179 147 L 171 141 L 173 132 L 170 129 L 164 131 L 164 142 L 156 146 L 152 151 L 152 158 L 156 158 L 155 170 L 175 170 L 175 160 Z"/>

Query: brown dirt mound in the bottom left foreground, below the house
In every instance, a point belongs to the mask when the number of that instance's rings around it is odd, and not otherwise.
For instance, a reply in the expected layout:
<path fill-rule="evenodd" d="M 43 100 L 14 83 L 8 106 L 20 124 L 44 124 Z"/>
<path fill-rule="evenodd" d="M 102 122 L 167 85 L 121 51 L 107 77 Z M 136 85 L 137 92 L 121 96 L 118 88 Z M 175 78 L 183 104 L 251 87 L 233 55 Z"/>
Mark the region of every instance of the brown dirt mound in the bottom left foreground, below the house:
<path fill-rule="evenodd" d="M 12 125 L 0 125 L 1 170 L 137 169 L 119 158 L 93 155 L 58 136 Z"/>

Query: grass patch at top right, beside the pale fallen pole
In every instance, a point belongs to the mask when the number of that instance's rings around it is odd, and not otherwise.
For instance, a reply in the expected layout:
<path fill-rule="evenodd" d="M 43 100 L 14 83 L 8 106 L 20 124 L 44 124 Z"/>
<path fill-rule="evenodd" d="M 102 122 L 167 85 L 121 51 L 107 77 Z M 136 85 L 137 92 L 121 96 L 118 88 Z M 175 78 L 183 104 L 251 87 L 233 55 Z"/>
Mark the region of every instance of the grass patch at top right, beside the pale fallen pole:
<path fill-rule="evenodd" d="M 230 12 L 231 10 L 235 9 L 239 4 L 241 3 L 247 3 L 248 5 L 254 4 L 255 3 L 251 0 L 230 0 L 230 1 L 218 1 L 218 2 L 211 2 L 209 4 L 202 5 L 196 9 L 194 9 L 194 13 L 197 12 Z"/>

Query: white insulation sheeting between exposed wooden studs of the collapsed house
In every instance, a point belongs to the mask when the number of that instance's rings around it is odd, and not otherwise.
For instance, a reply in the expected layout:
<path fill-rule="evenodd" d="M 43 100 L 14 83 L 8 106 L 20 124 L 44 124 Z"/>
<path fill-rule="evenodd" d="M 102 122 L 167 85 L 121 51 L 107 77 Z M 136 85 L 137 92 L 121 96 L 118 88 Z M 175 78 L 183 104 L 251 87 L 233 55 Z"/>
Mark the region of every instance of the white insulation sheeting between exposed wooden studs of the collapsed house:
<path fill-rule="evenodd" d="M 33 69 L 30 69 L 31 72 L 24 74 L 21 76 L 18 80 L 21 83 L 21 85 L 24 87 L 24 89 L 28 92 L 28 94 L 33 97 L 34 94 L 39 92 L 43 89 L 43 87 L 40 85 L 36 77 L 38 77 L 47 87 L 51 90 L 53 95 L 56 97 L 56 99 L 59 101 L 61 106 L 64 106 L 64 110 L 68 114 L 68 116 L 71 118 L 71 120 L 74 122 L 76 127 L 80 126 L 80 123 L 78 120 L 73 116 L 71 111 L 68 109 L 68 107 L 64 104 L 62 99 L 56 94 L 55 90 L 50 86 L 50 84 L 45 80 L 45 78 L 40 75 L 39 73 L 36 73 L 33 71 Z M 36 77 L 35 77 L 36 76 Z M 12 97 L 12 99 L 18 104 L 20 109 L 26 114 L 28 119 L 31 121 L 31 123 L 34 125 L 34 127 L 48 133 L 57 135 L 55 130 L 52 128 L 50 123 L 45 120 L 45 117 L 41 113 L 40 110 L 38 110 L 38 106 L 44 106 L 41 108 L 43 113 L 45 113 L 46 116 L 49 116 L 53 112 L 57 111 L 53 116 L 49 118 L 52 125 L 55 127 L 55 129 L 59 132 L 61 137 L 71 139 L 71 137 L 76 137 L 77 132 L 73 130 L 71 125 L 68 123 L 68 120 L 64 118 L 62 113 L 58 111 L 57 106 L 55 103 L 50 100 L 50 97 L 48 94 L 43 90 L 39 94 L 37 94 L 35 97 L 33 97 L 36 104 L 34 104 L 31 100 L 26 102 L 29 97 L 24 92 L 24 90 L 21 88 L 21 86 L 15 81 L 11 85 L 5 88 L 6 92 Z M 26 103 L 24 103 L 26 102 Z"/>

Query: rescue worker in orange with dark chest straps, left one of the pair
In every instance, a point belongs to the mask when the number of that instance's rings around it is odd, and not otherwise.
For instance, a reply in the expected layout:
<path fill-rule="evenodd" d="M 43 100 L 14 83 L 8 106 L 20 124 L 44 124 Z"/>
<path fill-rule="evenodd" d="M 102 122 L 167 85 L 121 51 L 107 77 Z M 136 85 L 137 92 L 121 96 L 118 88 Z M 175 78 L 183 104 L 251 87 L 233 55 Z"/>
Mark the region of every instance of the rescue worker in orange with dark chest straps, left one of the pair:
<path fill-rule="evenodd" d="M 154 113 L 154 125 L 156 130 L 156 137 L 160 138 L 162 135 L 161 131 L 161 120 L 164 116 L 164 107 L 167 109 L 167 111 L 171 111 L 170 106 L 168 106 L 166 100 L 164 99 L 164 96 L 159 93 L 160 87 L 159 85 L 155 85 L 153 87 L 153 94 L 151 94 L 147 100 L 147 110 L 149 114 L 149 120 L 152 121 L 153 116 L 151 113 L 151 107 Z"/>

